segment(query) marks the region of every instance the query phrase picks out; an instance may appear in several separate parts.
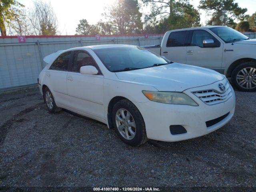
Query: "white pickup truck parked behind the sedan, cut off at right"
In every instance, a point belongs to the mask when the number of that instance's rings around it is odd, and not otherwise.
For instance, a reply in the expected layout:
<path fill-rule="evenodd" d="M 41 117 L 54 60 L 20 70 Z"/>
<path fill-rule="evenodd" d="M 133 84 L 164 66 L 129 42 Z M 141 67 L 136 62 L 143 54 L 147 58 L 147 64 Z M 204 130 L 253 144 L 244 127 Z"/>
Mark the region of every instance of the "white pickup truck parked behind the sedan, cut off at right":
<path fill-rule="evenodd" d="M 256 90 L 256 39 L 232 28 L 171 30 L 164 34 L 161 45 L 144 48 L 173 62 L 216 70 L 231 78 L 238 90 Z"/>

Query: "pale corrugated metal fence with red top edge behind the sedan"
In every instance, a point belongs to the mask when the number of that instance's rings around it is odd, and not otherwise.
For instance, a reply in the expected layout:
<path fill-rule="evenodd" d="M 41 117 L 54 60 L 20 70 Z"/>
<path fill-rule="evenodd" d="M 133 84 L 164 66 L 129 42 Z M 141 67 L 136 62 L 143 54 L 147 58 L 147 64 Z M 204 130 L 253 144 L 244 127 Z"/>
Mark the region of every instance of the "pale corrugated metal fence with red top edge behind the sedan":
<path fill-rule="evenodd" d="M 58 50 L 96 44 L 154 45 L 160 44 L 162 37 L 163 34 L 0 37 L 0 91 L 35 84 L 45 66 L 42 59 Z"/>

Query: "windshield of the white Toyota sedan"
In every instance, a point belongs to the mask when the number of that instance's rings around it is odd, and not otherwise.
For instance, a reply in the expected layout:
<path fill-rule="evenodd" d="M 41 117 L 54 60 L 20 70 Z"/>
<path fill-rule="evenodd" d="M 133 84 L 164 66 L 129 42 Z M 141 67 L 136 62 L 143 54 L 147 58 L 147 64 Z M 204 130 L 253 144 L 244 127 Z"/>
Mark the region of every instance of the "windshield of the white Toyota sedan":
<path fill-rule="evenodd" d="M 93 50 L 111 72 L 122 72 L 170 64 L 170 61 L 139 46 Z"/>

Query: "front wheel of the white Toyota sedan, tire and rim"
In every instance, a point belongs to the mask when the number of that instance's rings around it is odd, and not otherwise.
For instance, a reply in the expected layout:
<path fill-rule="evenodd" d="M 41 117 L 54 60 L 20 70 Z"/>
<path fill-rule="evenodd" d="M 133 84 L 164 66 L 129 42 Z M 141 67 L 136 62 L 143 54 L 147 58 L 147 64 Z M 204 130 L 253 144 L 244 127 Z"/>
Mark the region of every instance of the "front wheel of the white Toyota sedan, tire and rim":
<path fill-rule="evenodd" d="M 132 102 L 118 101 L 112 110 L 112 121 L 116 133 L 126 144 L 139 146 L 148 140 L 142 115 Z"/>

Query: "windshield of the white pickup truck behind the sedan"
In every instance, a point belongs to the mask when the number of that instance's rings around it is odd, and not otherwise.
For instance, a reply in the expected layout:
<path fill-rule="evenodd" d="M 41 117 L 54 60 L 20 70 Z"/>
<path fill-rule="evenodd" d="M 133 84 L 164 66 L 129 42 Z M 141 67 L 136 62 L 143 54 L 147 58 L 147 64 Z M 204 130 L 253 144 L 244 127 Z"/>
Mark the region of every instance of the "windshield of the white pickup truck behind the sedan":
<path fill-rule="evenodd" d="M 216 35 L 218 35 L 226 43 L 249 39 L 244 34 L 230 27 L 214 27 L 214 28 L 210 28 L 210 30 L 214 32 Z"/>

